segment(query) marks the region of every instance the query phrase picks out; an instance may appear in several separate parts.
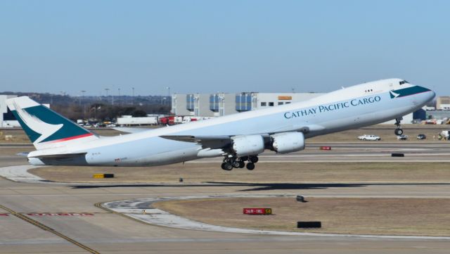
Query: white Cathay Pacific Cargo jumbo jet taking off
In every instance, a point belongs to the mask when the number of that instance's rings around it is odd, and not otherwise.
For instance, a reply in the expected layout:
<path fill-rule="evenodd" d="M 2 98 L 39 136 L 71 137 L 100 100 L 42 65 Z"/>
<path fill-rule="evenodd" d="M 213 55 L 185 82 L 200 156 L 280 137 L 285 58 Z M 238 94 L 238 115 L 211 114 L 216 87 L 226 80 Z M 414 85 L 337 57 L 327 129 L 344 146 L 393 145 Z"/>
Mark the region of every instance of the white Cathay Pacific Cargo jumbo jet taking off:
<path fill-rule="evenodd" d="M 435 92 L 406 80 L 342 87 L 302 101 L 159 129 L 126 128 L 98 136 L 27 96 L 6 100 L 36 151 L 32 165 L 156 166 L 223 157 L 221 168 L 255 168 L 258 155 L 302 151 L 305 139 L 396 119 L 423 107 Z"/>

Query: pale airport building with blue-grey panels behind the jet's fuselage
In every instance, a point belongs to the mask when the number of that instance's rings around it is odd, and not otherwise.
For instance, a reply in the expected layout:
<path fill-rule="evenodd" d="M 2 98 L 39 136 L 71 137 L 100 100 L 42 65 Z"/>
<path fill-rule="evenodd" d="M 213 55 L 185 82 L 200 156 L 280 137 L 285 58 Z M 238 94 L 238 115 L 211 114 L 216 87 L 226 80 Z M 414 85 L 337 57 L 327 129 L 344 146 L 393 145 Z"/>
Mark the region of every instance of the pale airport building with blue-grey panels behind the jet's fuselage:
<path fill-rule="evenodd" d="M 307 101 L 319 93 L 172 94 L 174 115 L 214 117 Z"/>

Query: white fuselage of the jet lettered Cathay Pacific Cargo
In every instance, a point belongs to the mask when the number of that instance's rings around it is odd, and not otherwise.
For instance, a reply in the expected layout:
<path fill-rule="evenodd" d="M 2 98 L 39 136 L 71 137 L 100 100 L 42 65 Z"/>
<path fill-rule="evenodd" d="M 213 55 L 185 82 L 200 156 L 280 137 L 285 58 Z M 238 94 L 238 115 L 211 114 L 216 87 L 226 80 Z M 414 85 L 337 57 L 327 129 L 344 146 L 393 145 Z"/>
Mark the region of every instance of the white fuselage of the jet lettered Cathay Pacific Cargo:
<path fill-rule="evenodd" d="M 204 158 L 200 144 L 160 136 L 236 136 L 304 131 L 309 138 L 345 129 L 374 125 L 421 108 L 435 93 L 399 79 L 368 82 L 342 88 L 309 101 L 249 111 L 221 118 L 189 122 L 146 132 L 101 137 L 70 146 L 33 151 L 29 157 L 53 153 L 86 153 L 84 160 L 65 160 L 60 165 L 165 165 Z M 413 94 L 415 89 L 418 93 Z M 408 91 L 399 95 L 391 91 Z M 33 164 L 49 164 L 30 159 Z M 52 163 L 50 163 L 52 164 Z"/>

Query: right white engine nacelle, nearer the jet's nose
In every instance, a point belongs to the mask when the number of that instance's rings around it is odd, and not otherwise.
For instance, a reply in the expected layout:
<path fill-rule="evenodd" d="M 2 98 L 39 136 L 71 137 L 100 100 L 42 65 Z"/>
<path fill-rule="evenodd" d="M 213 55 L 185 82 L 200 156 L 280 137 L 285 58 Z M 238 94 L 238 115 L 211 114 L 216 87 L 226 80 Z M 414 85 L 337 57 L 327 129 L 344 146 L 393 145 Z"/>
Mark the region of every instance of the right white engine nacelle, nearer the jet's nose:
<path fill-rule="evenodd" d="M 303 132 L 283 132 L 271 135 L 272 148 L 277 153 L 292 153 L 304 149 Z"/>

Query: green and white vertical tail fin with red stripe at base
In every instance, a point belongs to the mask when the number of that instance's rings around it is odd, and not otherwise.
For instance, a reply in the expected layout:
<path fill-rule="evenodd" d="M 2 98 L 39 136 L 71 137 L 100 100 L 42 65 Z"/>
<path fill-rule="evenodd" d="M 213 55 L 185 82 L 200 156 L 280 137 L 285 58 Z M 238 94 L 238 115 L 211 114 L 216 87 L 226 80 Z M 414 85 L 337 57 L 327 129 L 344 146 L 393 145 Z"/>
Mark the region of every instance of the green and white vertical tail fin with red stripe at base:
<path fill-rule="evenodd" d="M 89 130 L 28 96 L 7 99 L 6 105 L 37 150 L 98 139 L 98 136 Z"/>

